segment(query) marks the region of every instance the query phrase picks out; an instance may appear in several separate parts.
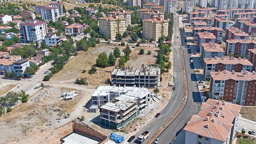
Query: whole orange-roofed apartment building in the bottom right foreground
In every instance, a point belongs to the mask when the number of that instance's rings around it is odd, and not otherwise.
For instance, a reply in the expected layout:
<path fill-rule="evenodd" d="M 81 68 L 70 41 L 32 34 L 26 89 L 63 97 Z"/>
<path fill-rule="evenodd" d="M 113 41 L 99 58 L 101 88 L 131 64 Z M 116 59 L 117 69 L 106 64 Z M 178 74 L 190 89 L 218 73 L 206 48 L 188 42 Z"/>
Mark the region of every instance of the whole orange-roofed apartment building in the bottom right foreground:
<path fill-rule="evenodd" d="M 229 144 L 235 139 L 242 106 L 208 99 L 185 126 L 185 144 Z"/>

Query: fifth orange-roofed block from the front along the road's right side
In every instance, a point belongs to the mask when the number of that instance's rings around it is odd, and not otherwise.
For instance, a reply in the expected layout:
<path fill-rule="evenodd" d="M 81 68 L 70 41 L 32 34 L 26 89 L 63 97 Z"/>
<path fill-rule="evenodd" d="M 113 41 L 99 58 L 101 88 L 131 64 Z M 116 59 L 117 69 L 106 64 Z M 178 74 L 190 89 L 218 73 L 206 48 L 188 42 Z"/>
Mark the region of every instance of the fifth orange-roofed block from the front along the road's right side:
<path fill-rule="evenodd" d="M 200 53 L 202 53 L 201 45 L 203 43 L 209 43 L 209 42 L 216 43 L 215 35 L 213 35 L 212 33 L 206 32 L 206 31 L 198 33 L 197 46 L 200 48 Z"/>

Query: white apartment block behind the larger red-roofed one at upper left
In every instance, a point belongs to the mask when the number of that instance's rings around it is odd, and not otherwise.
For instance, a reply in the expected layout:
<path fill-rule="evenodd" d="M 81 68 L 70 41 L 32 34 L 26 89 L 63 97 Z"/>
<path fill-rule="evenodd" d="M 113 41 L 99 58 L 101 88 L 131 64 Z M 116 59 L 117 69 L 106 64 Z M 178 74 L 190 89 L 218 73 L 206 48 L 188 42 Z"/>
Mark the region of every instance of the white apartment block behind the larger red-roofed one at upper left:
<path fill-rule="evenodd" d="M 59 9 L 54 6 L 46 5 L 45 7 L 41 7 L 41 16 L 44 21 L 57 21 L 60 17 Z"/>

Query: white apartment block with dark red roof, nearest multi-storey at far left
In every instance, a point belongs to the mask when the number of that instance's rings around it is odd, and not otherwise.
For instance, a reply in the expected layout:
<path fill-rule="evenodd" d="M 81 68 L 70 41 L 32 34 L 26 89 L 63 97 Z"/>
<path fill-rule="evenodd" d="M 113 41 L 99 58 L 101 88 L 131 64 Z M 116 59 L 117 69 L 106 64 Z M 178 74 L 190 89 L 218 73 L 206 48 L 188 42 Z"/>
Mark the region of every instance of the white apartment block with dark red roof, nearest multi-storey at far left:
<path fill-rule="evenodd" d="M 36 41 L 41 43 L 48 33 L 47 22 L 35 19 L 25 20 L 25 23 L 20 24 L 20 29 L 21 39 L 24 40 L 24 43 L 36 43 Z"/>

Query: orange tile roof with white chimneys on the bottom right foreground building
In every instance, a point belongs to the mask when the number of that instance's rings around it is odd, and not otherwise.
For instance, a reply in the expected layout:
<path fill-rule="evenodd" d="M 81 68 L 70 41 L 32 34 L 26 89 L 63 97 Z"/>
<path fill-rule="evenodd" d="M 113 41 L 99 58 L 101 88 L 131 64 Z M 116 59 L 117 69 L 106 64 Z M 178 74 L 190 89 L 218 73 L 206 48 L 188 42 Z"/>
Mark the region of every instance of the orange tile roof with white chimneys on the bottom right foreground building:
<path fill-rule="evenodd" d="M 205 136 L 207 138 L 226 141 L 233 126 L 232 122 L 235 117 L 238 117 L 238 113 L 240 112 L 242 106 L 229 102 L 225 102 L 225 105 L 223 105 L 223 102 L 220 101 L 218 104 L 218 100 L 208 99 L 205 102 L 206 104 L 202 104 L 201 110 L 197 114 L 200 118 L 196 120 L 190 119 L 184 130 Z M 214 105 L 216 105 L 217 108 L 214 108 Z M 223 107 L 223 110 L 221 110 L 220 107 Z M 214 111 L 212 115 L 209 114 L 211 110 Z M 234 113 L 230 112 L 230 110 L 236 111 L 237 115 L 234 115 Z M 225 113 L 225 117 L 221 115 L 219 117 L 215 116 L 217 111 L 219 113 Z M 206 120 L 206 117 L 209 119 Z M 213 122 L 213 119 L 215 119 L 215 122 Z M 206 128 L 206 124 L 209 125 L 208 128 Z"/>

